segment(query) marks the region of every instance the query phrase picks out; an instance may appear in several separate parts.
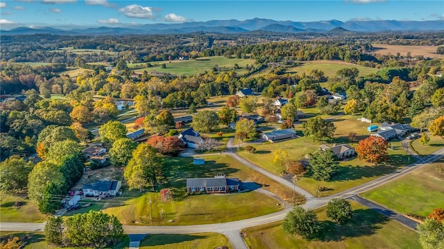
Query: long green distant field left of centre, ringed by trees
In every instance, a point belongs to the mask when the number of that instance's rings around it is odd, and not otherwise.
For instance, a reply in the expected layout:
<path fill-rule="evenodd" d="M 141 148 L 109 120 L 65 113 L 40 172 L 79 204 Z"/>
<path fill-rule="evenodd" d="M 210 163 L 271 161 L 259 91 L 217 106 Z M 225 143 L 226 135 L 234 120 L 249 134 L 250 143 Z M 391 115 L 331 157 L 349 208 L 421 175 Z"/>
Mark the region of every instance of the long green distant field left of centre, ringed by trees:
<path fill-rule="evenodd" d="M 225 58 L 223 56 L 212 56 L 203 57 L 196 60 L 171 60 L 165 62 L 151 62 L 154 67 L 146 67 L 143 69 L 136 69 L 136 72 L 142 73 L 143 71 L 157 71 L 161 73 L 169 73 L 176 75 L 194 75 L 202 74 L 205 71 L 211 71 L 214 66 L 218 66 L 221 69 L 232 68 L 234 64 L 239 65 L 239 67 L 244 67 L 247 64 L 253 65 L 255 60 L 251 59 L 237 59 L 237 58 Z M 167 68 L 162 69 L 160 66 L 165 64 Z M 128 65 L 131 67 L 131 65 Z M 245 69 L 238 69 L 237 74 L 245 74 Z"/>

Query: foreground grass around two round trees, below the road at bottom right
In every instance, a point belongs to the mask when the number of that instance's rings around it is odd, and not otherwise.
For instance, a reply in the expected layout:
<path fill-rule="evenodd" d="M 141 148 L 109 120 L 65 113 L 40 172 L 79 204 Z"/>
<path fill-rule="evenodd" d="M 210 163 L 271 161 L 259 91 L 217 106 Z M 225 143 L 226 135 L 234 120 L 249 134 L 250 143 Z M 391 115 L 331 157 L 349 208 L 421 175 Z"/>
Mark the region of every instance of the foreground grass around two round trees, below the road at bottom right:
<path fill-rule="evenodd" d="M 348 223 L 337 225 L 327 218 L 325 207 L 316 209 L 323 223 L 317 239 L 307 241 L 282 230 L 281 222 L 248 227 L 244 230 L 250 248 L 421 248 L 418 233 L 397 221 L 351 202 L 354 218 Z"/>

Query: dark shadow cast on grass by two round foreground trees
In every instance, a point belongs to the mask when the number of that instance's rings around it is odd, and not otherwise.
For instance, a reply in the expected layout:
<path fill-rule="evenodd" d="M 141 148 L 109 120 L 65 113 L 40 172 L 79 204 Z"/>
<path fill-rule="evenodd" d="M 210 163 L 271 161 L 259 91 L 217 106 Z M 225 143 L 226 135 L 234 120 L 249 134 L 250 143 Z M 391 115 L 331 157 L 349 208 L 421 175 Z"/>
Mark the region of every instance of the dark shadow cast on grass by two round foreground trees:
<path fill-rule="evenodd" d="M 351 237 L 369 236 L 382 227 L 388 218 L 371 209 L 357 209 L 353 218 L 343 224 L 323 221 L 323 229 L 318 238 L 321 241 L 342 241 Z"/>

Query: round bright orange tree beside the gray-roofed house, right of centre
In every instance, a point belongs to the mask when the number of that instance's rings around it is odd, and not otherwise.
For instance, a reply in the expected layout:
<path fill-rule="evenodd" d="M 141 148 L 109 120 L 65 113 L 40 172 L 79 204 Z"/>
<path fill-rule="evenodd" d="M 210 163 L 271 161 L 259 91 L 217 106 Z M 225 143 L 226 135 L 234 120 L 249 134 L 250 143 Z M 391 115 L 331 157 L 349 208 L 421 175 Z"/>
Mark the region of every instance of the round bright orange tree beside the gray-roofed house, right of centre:
<path fill-rule="evenodd" d="M 359 160 L 384 162 L 387 159 L 388 141 L 382 137 L 370 136 L 359 141 L 355 148 Z"/>

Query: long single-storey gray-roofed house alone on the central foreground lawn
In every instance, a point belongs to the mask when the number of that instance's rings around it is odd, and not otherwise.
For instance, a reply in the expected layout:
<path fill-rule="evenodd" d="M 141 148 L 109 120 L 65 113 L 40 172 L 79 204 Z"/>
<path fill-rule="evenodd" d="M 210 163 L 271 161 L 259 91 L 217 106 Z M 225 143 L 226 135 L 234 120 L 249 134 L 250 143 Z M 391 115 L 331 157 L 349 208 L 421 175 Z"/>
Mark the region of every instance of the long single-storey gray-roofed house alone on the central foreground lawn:
<path fill-rule="evenodd" d="M 239 191 L 239 178 L 226 178 L 225 174 L 216 174 L 214 178 L 188 178 L 187 192 L 227 193 L 229 191 Z"/>

